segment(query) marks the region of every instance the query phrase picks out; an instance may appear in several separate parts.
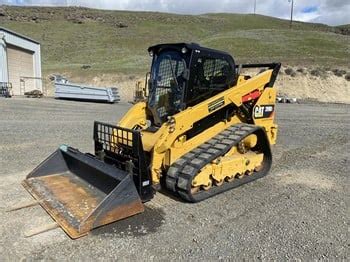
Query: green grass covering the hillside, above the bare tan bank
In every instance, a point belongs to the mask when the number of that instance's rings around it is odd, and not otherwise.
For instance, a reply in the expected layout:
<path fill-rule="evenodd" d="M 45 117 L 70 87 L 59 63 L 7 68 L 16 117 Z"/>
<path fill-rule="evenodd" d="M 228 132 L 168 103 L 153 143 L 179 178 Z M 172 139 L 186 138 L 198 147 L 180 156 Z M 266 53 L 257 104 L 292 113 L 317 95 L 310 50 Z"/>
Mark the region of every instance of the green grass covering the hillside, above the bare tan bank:
<path fill-rule="evenodd" d="M 1 26 L 41 42 L 46 74 L 144 73 L 150 63 L 146 49 L 163 42 L 197 42 L 231 53 L 238 63 L 349 65 L 350 36 L 336 34 L 335 28 L 322 24 L 295 22 L 290 29 L 286 20 L 241 14 L 190 16 L 36 7 L 5 7 L 5 11 Z M 31 21 L 34 16 L 38 23 Z M 118 28 L 119 22 L 128 27 Z M 84 64 L 92 67 L 83 70 Z"/>

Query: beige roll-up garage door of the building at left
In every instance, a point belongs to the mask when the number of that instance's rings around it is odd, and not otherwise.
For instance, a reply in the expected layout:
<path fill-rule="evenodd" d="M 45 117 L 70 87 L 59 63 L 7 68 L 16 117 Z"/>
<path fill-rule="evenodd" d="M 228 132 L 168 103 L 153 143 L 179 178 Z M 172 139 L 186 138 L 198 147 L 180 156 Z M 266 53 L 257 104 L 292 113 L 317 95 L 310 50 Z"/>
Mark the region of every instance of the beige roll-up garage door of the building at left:
<path fill-rule="evenodd" d="M 7 46 L 9 82 L 12 83 L 14 95 L 23 95 L 21 94 L 20 77 L 34 77 L 33 54 L 33 52 L 18 47 Z M 34 81 L 25 81 L 26 91 L 33 90 L 34 87 Z"/>

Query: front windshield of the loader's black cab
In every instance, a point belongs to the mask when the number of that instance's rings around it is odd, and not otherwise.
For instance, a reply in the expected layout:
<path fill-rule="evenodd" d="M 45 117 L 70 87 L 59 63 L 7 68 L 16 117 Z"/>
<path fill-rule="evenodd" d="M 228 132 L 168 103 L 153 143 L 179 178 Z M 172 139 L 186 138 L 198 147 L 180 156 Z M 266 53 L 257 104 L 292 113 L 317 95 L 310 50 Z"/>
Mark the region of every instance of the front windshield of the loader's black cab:
<path fill-rule="evenodd" d="M 156 125 L 166 121 L 167 116 L 180 111 L 185 85 L 183 72 L 186 56 L 177 51 L 163 51 L 153 60 L 148 107 Z"/>

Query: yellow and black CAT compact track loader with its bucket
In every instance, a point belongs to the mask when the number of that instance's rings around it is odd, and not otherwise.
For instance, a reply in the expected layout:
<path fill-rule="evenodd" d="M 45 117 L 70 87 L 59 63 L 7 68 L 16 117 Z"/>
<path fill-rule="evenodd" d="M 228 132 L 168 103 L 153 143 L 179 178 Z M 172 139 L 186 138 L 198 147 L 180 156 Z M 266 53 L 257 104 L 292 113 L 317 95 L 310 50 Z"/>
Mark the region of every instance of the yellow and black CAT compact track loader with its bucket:
<path fill-rule="evenodd" d="M 148 51 L 147 100 L 116 126 L 94 123 L 94 154 L 62 145 L 23 181 L 72 238 L 142 212 L 157 190 L 197 202 L 270 169 L 279 63 L 236 65 L 197 44 Z"/>

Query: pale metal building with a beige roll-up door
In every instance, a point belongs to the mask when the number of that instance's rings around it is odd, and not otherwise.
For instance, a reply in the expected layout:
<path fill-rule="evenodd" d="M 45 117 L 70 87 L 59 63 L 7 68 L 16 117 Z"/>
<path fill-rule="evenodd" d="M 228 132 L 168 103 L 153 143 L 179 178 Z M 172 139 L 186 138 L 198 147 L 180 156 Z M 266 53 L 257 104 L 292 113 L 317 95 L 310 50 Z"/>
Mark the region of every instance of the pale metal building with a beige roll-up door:
<path fill-rule="evenodd" d="M 0 83 L 11 83 L 13 95 L 43 91 L 39 42 L 0 27 Z"/>

